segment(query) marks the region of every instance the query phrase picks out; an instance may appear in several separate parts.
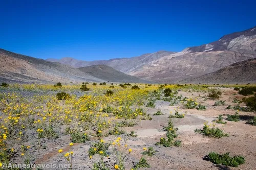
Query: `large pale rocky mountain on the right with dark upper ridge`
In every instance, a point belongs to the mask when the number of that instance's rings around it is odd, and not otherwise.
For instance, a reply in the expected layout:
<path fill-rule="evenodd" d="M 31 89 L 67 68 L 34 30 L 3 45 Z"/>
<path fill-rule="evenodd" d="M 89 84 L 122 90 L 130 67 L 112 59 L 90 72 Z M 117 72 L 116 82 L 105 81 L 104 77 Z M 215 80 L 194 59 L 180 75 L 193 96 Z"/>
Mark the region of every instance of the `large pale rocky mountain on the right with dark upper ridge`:
<path fill-rule="evenodd" d="M 256 58 L 256 27 L 161 57 L 129 72 L 129 75 L 160 83 L 175 83 L 253 58 Z"/>

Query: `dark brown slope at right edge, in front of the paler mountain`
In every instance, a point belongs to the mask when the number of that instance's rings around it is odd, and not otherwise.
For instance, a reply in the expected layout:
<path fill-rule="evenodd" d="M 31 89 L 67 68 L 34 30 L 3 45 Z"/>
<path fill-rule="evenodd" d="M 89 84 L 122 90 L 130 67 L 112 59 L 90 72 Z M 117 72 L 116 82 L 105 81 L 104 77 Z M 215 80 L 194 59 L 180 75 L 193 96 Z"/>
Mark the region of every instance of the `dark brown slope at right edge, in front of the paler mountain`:
<path fill-rule="evenodd" d="M 256 82 L 256 59 L 231 64 L 218 71 L 187 79 L 180 83 L 254 83 Z"/>

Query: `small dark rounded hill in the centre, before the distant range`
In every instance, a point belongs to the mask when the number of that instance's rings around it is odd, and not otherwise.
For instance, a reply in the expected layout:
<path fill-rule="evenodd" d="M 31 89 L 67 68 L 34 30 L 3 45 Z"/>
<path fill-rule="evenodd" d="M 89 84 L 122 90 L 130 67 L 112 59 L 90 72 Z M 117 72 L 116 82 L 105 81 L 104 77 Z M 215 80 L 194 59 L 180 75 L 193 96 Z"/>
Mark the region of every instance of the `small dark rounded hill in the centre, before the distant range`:
<path fill-rule="evenodd" d="M 88 75 L 110 82 L 148 83 L 148 81 L 142 81 L 141 79 L 138 79 L 134 76 L 126 75 L 123 72 L 106 65 L 92 65 L 87 67 L 80 67 L 78 69 Z"/>

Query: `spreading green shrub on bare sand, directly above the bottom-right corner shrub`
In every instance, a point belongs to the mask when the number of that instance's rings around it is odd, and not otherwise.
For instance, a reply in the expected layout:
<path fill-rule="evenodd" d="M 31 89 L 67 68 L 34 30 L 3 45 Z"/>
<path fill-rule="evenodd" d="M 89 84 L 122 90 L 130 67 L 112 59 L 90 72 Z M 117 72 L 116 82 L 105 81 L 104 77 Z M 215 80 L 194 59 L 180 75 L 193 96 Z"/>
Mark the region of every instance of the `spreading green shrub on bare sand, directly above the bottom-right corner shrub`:
<path fill-rule="evenodd" d="M 205 136 L 208 137 L 215 137 L 215 138 L 221 138 L 223 136 L 228 136 L 227 133 L 224 133 L 223 130 L 216 128 L 215 126 L 213 128 L 209 128 L 207 124 L 204 124 L 203 129 L 196 129 L 195 132 L 202 133 Z"/>

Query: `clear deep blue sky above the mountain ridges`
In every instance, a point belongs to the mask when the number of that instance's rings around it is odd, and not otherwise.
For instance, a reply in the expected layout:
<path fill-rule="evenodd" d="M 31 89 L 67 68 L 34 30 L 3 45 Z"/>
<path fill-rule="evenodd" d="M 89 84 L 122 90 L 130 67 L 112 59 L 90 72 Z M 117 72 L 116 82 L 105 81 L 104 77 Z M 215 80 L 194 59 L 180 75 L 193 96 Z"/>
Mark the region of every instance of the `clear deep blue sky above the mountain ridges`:
<path fill-rule="evenodd" d="M 2 0 L 0 48 L 88 61 L 178 52 L 254 27 L 255 7 L 255 0 Z"/>

